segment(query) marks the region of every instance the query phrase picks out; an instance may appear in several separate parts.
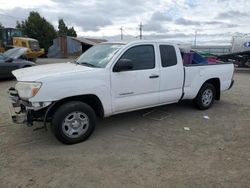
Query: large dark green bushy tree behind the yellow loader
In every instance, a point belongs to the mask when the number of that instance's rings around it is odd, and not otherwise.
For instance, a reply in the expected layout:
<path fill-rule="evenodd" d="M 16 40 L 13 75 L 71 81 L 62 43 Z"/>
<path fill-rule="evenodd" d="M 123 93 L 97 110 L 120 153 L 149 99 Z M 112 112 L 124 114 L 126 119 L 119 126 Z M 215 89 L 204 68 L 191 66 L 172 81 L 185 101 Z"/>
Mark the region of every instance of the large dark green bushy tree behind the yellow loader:
<path fill-rule="evenodd" d="M 55 28 L 38 12 L 32 11 L 25 20 L 17 22 L 17 29 L 20 29 L 24 35 L 37 39 L 39 44 L 45 51 L 52 45 L 53 39 L 57 37 Z"/>

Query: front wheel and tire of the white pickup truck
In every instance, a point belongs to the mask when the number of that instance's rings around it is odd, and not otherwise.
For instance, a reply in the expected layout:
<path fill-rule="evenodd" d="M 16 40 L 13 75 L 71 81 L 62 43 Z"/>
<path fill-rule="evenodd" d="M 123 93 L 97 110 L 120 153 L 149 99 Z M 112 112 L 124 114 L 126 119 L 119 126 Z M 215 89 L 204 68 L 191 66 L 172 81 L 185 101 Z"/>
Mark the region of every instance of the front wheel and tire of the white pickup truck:
<path fill-rule="evenodd" d="M 64 144 L 76 144 L 87 140 L 95 125 L 94 110 L 81 101 L 61 105 L 52 118 L 52 132 Z"/>

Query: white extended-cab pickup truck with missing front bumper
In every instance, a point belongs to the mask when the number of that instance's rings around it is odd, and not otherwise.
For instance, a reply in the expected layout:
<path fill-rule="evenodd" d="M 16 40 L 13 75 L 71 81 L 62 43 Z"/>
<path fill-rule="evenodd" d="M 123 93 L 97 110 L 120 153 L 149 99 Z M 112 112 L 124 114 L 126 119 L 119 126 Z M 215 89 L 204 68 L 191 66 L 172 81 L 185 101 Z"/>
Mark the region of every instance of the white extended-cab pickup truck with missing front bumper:
<path fill-rule="evenodd" d="M 233 85 L 230 63 L 184 65 L 181 47 L 161 41 L 102 43 L 76 61 L 13 71 L 9 89 L 16 123 L 51 123 L 66 144 L 86 140 L 96 116 L 108 117 L 183 99 L 201 110 Z"/>

